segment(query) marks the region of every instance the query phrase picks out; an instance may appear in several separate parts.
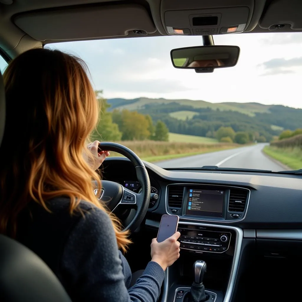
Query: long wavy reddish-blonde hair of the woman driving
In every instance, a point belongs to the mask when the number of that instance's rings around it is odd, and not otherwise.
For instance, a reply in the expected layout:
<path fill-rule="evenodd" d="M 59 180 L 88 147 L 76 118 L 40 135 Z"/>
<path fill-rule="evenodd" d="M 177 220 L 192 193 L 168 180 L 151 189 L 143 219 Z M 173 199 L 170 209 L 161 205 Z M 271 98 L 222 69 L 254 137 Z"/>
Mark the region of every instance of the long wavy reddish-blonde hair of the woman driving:
<path fill-rule="evenodd" d="M 100 176 L 85 158 L 86 145 L 98 123 L 99 105 L 79 58 L 49 49 L 32 49 L 14 59 L 4 72 L 6 124 L 0 148 L 0 233 L 14 237 L 17 218 L 31 201 L 41 204 L 70 198 L 70 213 L 81 200 L 106 211 L 119 248 L 128 232 L 93 191 Z"/>

